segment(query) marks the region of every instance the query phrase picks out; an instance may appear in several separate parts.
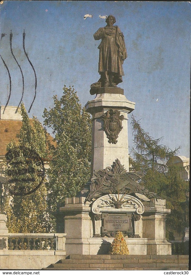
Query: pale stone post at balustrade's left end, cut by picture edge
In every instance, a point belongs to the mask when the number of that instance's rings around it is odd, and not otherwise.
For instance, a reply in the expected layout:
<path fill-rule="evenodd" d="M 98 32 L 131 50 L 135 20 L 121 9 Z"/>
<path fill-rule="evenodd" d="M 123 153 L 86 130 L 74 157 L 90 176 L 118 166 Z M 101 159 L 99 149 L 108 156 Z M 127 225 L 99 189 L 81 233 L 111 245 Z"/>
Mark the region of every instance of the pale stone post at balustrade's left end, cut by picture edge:
<path fill-rule="evenodd" d="M 8 250 L 8 229 L 6 226 L 7 216 L 0 214 L 0 249 Z"/>

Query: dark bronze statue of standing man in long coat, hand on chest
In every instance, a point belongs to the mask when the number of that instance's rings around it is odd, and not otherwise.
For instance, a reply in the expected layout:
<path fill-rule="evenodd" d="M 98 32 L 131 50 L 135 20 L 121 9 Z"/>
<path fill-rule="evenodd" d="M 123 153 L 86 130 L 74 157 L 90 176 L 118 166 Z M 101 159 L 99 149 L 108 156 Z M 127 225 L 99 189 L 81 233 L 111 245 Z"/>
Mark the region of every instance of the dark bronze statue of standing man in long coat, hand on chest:
<path fill-rule="evenodd" d="M 123 61 L 127 58 L 124 35 L 118 26 L 113 26 L 116 19 L 109 15 L 105 22 L 107 26 L 99 28 L 94 34 L 95 40 L 102 39 L 99 49 L 98 72 L 101 75 L 98 82 L 101 87 L 116 87 L 121 83 L 123 71 Z"/>

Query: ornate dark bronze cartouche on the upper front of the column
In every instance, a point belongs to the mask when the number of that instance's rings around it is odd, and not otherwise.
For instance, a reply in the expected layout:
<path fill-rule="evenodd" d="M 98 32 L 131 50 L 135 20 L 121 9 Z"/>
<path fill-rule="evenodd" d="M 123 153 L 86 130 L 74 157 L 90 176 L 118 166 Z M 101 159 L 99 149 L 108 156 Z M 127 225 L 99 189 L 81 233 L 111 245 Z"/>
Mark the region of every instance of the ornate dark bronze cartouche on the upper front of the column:
<path fill-rule="evenodd" d="M 104 131 L 107 134 L 108 142 L 112 144 L 116 144 L 118 134 L 122 130 L 122 120 L 124 120 L 124 116 L 120 116 L 120 112 L 115 109 L 110 109 L 106 113 L 104 113 L 101 118 L 104 120 Z"/>

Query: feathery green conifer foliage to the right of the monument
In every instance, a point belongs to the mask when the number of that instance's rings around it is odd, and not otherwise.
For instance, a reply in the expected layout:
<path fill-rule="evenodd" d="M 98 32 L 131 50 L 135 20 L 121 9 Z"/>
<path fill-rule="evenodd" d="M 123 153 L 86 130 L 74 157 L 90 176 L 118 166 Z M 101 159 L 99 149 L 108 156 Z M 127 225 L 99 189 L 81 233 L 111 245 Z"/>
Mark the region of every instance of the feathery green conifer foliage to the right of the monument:
<path fill-rule="evenodd" d="M 133 156 L 130 157 L 130 171 L 142 171 L 142 184 L 166 199 L 167 207 L 171 209 L 166 222 L 167 239 L 174 240 L 178 235 L 184 237 L 184 229 L 189 227 L 189 182 L 182 179 L 184 167 L 173 164 L 166 166 L 166 162 L 178 153 L 180 147 L 171 150 L 161 144 L 162 138 L 152 138 L 134 116 L 131 124 L 135 145 L 131 152 Z"/>

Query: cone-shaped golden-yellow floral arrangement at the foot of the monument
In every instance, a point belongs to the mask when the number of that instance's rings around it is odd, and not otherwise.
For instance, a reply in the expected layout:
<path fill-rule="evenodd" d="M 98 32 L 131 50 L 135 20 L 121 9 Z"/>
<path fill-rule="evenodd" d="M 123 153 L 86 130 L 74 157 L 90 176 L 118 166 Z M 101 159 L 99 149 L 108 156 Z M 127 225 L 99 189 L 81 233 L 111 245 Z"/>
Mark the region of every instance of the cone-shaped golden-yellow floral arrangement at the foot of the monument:
<path fill-rule="evenodd" d="M 129 255 L 129 250 L 127 248 L 126 241 L 123 237 L 123 233 L 118 231 L 115 235 L 115 238 L 111 244 L 109 251 L 111 255 Z"/>

